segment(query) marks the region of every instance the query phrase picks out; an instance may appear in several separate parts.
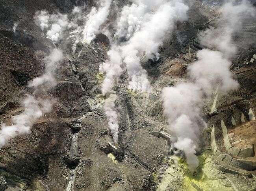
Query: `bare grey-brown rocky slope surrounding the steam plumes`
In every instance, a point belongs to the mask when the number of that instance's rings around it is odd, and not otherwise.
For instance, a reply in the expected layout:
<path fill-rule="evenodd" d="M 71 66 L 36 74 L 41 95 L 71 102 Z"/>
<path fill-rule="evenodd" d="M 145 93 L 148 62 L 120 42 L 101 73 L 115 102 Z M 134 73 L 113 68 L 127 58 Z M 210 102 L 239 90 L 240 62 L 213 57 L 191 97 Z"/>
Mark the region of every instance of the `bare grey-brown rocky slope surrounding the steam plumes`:
<path fill-rule="evenodd" d="M 164 42 L 160 60 L 141 60 L 153 87 L 152 94 L 132 93 L 126 89 L 127 73 L 121 76 L 115 84 L 115 93 L 110 95 L 121 114 L 118 140 L 121 151 L 111 153 L 108 142 L 112 138 L 104 114 L 105 97 L 101 94 L 102 76 L 98 71 L 108 56 L 109 44 L 95 40 L 93 47 L 80 45 L 72 53 L 70 39 L 63 38 L 54 45 L 33 21 L 37 10 L 70 13 L 74 5 L 83 3 L 82 0 L 0 0 L 0 124 L 10 125 L 11 116 L 24 109 L 20 102 L 26 93 L 32 93 L 28 81 L 43 73 L 41 63 L 49 49 L 59 47 L 65 54 L 57 71 L 58 84 L 42 94 L 55 100 L 52 111 L 36 120 L 30 135 L 17 136 L 0 149 L 0 191 L 7 187 L 7 191 L 248 191 L 256 188 L 256 168 L 230 166 L 211 150 L 214 125 L 218 151 L 230 154 L 224 147 L 221 120 L 226 123 L 228 133 L 236 133 L 233 137 L 239 135 L 239 127 L 245 123 L 250 123 L 248 127 L 253 133 L 256 131 L 248 114 L 249 109 L 256 113 L 256 58 L 250 62 L 256 54 L 255 45 L 241 50 L 234 58 L 231 70 L 239 89 L 219 96 L 215 112 L 211 112 L 214 95 L 204 106 L 208 128 L 202 134 L 202 149 L 197 153 L 200 166 L 193 176 L 182 158 L 178 166 L 168 158 L 173 153 L 165 152 L 167 140 L 150 133 L 161 127 L 170 133 L 163 115 L 161 89 L 186 80 L 187 65 L 195 59 L 195 52 L 203 48 L 197 41 L 198 31 L 214 25 L 212 20 L 217 13 L 210 5 L 195 1 L 188 13 L 189 20 L 179 23 L 174 35 Z M 88 7 L 95 5 L 92 0 L 85 3 Z M 124 2 L 117 4 L 122 7 Z M 16 22 L 19 26 L 13 32 Z M 239 38 L 255 40 L 255 25 L 256 20 L 252 18 L 243 28 L 250 33 L 239 33 Z M 178 36 L 183 36 L 182 44 Z M 79 51 L 82 53 L 78 57 Z M 236 126 L 231 122 L 235 111 Z M 244 121 L 241 113 L 245 115 Z M 252 132 L 243 133 L 249 136 Z M 254 141 L 251 138 L 255 148 Z M 121 161 L 115 157 L 119 154 Z M 249 159 L 256 162 L 254 156 Z"/>

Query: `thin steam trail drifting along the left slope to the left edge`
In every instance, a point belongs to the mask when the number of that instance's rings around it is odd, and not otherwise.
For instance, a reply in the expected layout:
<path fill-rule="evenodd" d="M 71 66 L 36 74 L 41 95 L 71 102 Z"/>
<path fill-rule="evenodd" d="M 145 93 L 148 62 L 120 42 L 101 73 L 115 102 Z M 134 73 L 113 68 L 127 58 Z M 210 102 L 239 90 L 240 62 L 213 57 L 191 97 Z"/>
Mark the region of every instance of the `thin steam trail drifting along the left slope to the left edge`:
<path fill-rule="evenodd" d="M 43 61 L 45 62 L 45 73 L 29 82 L 28 86 L 33 87 L 35 91 L 40 88 L 47 90 L 55 85 L 54 74 L 62 59 L 62 52 L 58 49 L 53 49 L 49 56 Z M 35 93 L 34 91 L 34 93 Z M 35 120 L 52 109 L 51 100 L 43 100 L 35 96 L 26 94 L 26 98 L 22 102 L 24 111 L 19 115 L 11 118 L 13 124 L 7 126 L 2 124 L 0 129 L 0 148 L 8 143 L 11 138 L 17 135 L 28 134 Z"/>

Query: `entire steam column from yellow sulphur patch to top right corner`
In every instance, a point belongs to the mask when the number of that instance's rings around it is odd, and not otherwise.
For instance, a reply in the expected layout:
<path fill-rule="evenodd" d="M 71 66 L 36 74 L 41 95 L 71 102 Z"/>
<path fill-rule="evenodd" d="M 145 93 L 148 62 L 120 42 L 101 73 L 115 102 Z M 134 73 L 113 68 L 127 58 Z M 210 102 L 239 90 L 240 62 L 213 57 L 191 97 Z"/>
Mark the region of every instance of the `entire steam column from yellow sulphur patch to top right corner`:
<path fill-rule="evenodd" d="M 198 60 L 187 67 L 193 83 L 182 82 L 175 87 L 163 89 L 164 113 L 174 136 L 174 147 L 185 153 L 191 171 L 195 171 L 198 166 L 195 154 L 200 149 L 200 133 L 206 127 L 201 111 L 203 102 L 217 86 L 222 94 L 238 87 L 238 83 L 232 78 L 229 69 L 232 62 L 228 58 L 236 53 L 232 37 L 241 29 L 244 16 L 255 14 L 252 9 L 254 8 L 247 1 L 224 4 L 221 16 L 217 19 L 217 28 L 206 29 L 200 34 L 202 44 L 208 42 L 219 51 L 202 49 L 197 52 Z"/>

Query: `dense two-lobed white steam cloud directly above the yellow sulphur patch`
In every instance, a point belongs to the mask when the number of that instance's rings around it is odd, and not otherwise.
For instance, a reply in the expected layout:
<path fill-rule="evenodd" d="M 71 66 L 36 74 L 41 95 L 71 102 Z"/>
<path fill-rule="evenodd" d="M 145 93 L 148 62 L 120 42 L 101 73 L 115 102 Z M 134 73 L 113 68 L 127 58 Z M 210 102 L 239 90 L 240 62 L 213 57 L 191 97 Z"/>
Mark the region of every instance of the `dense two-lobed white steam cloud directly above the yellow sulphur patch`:
<path fill-rule="evenodd" d="M 198 60 L 187 67 L 193 83 L 165 87 L 162 93 L 174 147 L 184 151 L 191 171 L 195 171 L 199 164 L 195 153 L 199 149 L 200 133 L 206 127 L 201 111 L 204 100 L 217 85 L 222 93 L 238 87 L 229 71 L 232 63 L 222 53 L 203 49 L 197 52 L 197 57 Z"/>

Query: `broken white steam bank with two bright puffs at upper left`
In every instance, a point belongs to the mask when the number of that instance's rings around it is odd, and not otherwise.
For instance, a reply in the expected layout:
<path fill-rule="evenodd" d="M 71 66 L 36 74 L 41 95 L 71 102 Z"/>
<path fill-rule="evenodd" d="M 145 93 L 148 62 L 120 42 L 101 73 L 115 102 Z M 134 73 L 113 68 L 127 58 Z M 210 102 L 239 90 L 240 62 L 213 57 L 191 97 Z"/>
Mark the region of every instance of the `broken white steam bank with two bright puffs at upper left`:
<path fill-rule="evenodd" d="M 43 34 L 52 42 L 58 43 L 68 30 L 72 38 L 72 51 L 76 51 L 79 42 L 88 44 L 100 33 L 100 27 L 108 18 L 111 0 L 99 0 L 99 7 L 92 7 L 86 16 L 85 6 L 74 6 L 69 15 L 61 13 L 50 14 L 48 11 L 37 11 L 34 16 L 35 24 L 38 25 Z"/>

